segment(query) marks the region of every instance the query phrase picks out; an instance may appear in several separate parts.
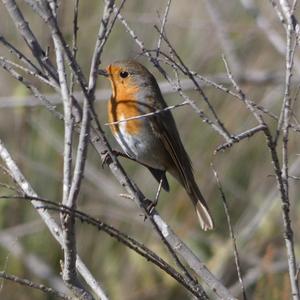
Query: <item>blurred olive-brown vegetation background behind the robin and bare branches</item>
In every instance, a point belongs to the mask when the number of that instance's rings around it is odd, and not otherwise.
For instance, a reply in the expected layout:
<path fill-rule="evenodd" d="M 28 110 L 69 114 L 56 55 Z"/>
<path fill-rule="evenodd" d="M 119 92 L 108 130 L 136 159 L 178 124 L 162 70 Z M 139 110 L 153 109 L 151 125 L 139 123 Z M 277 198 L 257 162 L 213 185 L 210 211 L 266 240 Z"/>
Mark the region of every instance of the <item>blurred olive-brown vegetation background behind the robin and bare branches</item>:
<path fill-rule="evenodd" d="M 55 61 L 47 27 L 23 1 L 18 3 L 44 49 L 49 47 L 50 58 Z M 126 2 L 122 10 L 125 19 L 148 49 L 156 48 L 158 34 L 153 25 L 160 26 L 166 4 L 166 0 L 131 0 Z M 80 1 L 77 55 L 87 76 L 102 9 L 102 1 Z M 71 44 L 73 1 L 60 1 L 59 18 L 64 35 Z M 0 28 L 1 35 L 29 54 L 2 3 Z M 284 95 L 286 38 L 284 28 L 268 1 L 173 1 L 165 32 L 191 70 L 232 88 L 222 61 L 222 54 L 225 54 L 233 75 L 247 96 L 271 112 L 280 113 Z M 162 49 L 168 52 L 164 43 Z M 0 53 L 1 56 L 14 59 L 2 45 Z M 139 54 L 140 49 L 117 21 L 104 48 L 101 66 L 105 67 L 115 60 L 137 58 L 163 84 L 168 104 L 182 102 L 157 70 L 145 58 L 137 57 Z M 293 96 L 296 95 L 299 84 L 299 62 L 300 55 L 296 52 Z M 186 78 L 182 79 L 186 93 L 196 101 L 198 107 L 207 112 L 207 106 L 199 94 L 189 90 L 192 87 L 190 82 Z M 60 107 L 60 98 L 53 90 L 40 82 L 36 82 L 36 85 L 42 92 L 51 95 L 50 99 L 58 101 Z M 100 122 L 113 147 L 118 148 L 104 125 L 107 122 L 106 101 L 110 95 L 110 86 L 105 79 L 99 78 L 97 92 L 99 99 L 96 108 Z M 232 134 L 257 125 L 245 105 L 232 96 L 209 86 L 204 86 L 204 92 Z M 55 119 L 24 86 L 2 69 L 0 108 L 0 138 L 37 193 L 59 202 L 62 195 L 63 123 Z M 295 120 L 298 113 L 299 105 L 296 102 Z M 211 169 L 213 162 L 228 201 L 249 299 L 289 299 L 281 201 L 263 134 L 258 133 L 214 155 L 217 146 L 224 142 L 222 137 L 203 123 L 188 106 L 174 110 L 173 114 L 186 150 L 191 156 L 197 182 L 209 203 L 216 228 L 212 232 L 200 230 L 185 191 L 171 177 L 168 177 L 171 191 L 161 193 L 159 213 L 232 293 L 241 298 L 232 241 Z M 266 121 L 276 128 L 271 118 L 266 117 Z M 295 176 L 300 175 L 298 134 L 291 131 L 289 148 L 290 172 Z M 153 198 L 157 183 L 151 174 L 134 162 L 122 158 L 120 160 L 141 190 Z M 2 171 L 0 182 L 13 184 Z M 120 193 L 124 193 L 124 190 L 110 171 L 101 167 L 101 161 L 90 147 L 79 208 L 121 229 L 166 257 L 160 239 L 148 222 L 144 221 L 136 205 L 120 197 Z M 0 195 L 14 194 L 15 192 L 0 186 Z M 291 179 L 291 219 L 295 229 L 296 255 L 299 256 L 298 195 L 298 181 Z M 192 297 L 173 279 L 105 233 L 85 224 L 78 225 L 79 254 L 101 282 L 110 299 Z M 0 200 L 0 228 L 1 269 L 63 289 L 59 275 L 62 251 L 30 203 Z M 8 281 L 1 283 L 0 298 L 54 299 Z"/>

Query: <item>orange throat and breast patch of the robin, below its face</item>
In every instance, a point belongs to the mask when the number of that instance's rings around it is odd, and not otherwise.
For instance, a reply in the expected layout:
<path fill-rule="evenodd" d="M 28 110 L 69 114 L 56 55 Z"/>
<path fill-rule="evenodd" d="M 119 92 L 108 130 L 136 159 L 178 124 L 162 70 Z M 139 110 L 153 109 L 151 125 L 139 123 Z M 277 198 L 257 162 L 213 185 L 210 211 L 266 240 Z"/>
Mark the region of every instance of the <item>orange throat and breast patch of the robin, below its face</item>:
<path fill-rule="evenodd" d="M 136 86 L 126 86 L 124 88 L 119 86 L 114 90 L 108 103 L 109 123 L 141 115 L 136 101 L 137 92 L 138 87 Z M 127 133 L 138 134 L 142 126 L 142 121 L 141 119 L 130 120 L 124 123 L 110 125 L 110 128 L 114 133 L 117 133 L 122 124 L 122 126 L 125 126 Z"/>

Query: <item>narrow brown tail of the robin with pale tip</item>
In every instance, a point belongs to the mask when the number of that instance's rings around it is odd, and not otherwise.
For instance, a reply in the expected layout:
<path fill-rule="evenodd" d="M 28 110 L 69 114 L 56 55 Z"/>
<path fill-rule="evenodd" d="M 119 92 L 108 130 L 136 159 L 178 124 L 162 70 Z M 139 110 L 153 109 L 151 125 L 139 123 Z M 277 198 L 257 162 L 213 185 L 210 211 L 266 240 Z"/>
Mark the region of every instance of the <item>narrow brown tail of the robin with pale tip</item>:
<path fill-rule="evenodd" d="M 200 222 L 201 228 L 206 230 L 211 230 L 214 228 L 214 222 L 210 215 L 208 206 L 205 199 L 203 198 L 197 184 L 194 182 L 187 190 L 191 200 L 196 209 L 198 220 Z"/>

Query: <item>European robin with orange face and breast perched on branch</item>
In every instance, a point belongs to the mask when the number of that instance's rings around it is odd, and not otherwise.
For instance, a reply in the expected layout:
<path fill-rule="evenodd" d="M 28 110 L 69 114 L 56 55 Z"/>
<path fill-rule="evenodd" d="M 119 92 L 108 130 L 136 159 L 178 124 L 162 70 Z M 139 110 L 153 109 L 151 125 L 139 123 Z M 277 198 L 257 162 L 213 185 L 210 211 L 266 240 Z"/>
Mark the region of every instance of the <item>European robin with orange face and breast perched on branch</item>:
<path fill-rule="evenodd" d="M 192 200 L 202 229 L 212 229 L 211 215 L 171 111 L 122 121 L 167 107 L 154 76 L 134 60 L 115 62 L 99 70 L 99 74 L 107 76 L 111 83 L 108 120 L 123 151 L 146 166 L 166 191 L 166 172 L 174 176 Z"/>

